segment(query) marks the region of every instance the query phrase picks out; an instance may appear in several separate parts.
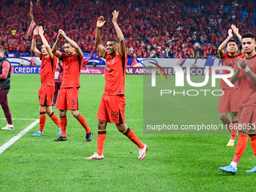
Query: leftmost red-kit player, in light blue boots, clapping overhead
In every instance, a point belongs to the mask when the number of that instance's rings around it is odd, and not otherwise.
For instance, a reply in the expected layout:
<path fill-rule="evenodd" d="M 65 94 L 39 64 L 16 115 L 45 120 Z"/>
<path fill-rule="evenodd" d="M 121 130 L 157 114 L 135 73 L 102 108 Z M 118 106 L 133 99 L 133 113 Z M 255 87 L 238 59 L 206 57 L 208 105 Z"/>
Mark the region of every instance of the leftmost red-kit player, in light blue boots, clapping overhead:
<path fill-rule="evenodd" d="M 41 52 L 36 48 L 35 39 L 40 35 L 43 45 Z M 51 105 L 54 93 L 54 73 L 56 69 L 56 56 L 53 56 L 50 46 L 44 38 L 44 30 L 42 26 L 36 26 L 32 38 L 32 50 L 41 59 L 41 88 L 38 91 L 39 97 L 39 130 L 30 136 L 44 136 L 43 130 L 46 121 L 46 114 L 59 127 L 57 136 L 61 135 L 59 118 L 52 111 Z"/>

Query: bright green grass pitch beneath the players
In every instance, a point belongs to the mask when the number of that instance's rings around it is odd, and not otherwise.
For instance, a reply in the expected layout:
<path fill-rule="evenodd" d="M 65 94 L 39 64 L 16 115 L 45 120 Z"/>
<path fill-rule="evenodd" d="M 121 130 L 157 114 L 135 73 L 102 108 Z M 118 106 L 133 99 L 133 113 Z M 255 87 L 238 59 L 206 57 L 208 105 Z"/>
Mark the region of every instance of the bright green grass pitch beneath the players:
<path fill-rule="evenodd" d="M 194 78 L 202 80 L 200 76 Z M 85 160 L 96 151 L 96 113 L 104 84 L 102 75 L 81 75 L 79 111 L 93 131 L 92 142 L 84 142 L 85 131 L 70 111 L 69 141 L 53 142 L 58 129 L 47 117 L 44 136 L 29 136 L 38 130 L 37 125 L 0 154 L 0 191 L 254 190 L 255 174 L 245 172 L 256 165 L 250 142 L 240 160 L 238 174 L 227 175 L 218 167 L 227 166 L 233 159 L 235 147 L 225 147 L 229 134 L 143 134 L 142 75 L 126 75 L 126 124 L 149 146 L 145 159 L 137 160 L 136 145 L 119 133 L 114 124 L 108 124 L 105 160 Z M 16 130 L 0 130 L 0 146 L 38 119 L 39 87 L 40 75 L 11 76 L 8 101 Z M 183 106 L 180 110 L 173 108 L 176 122 L 220 123 L 218 97 L 193 101 L 189 97 L 175 97 L 175 102 Z M 190 102 L 193 108 L 189 107 Z M 56 108 L 53 111 L 58 114 Z M 0 117 L 1 126 L 5 126 L 2 110 Z"/>

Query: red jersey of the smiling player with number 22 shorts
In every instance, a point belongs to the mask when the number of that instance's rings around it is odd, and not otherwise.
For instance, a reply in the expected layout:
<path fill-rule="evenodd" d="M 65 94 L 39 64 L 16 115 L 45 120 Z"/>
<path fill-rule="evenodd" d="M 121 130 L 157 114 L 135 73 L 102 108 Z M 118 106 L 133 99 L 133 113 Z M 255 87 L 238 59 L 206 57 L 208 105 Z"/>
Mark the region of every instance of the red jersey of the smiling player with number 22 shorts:
<path fill-rule="evenodd" d="M 111 56 L 106 51 L 103 57 L 106 59 L 105 94 L 124 95 L 124 81 L 127 66 L 127 54 L 126 56 L 122 56 L 118 52 L 117 56 L 111 58 Z"/>

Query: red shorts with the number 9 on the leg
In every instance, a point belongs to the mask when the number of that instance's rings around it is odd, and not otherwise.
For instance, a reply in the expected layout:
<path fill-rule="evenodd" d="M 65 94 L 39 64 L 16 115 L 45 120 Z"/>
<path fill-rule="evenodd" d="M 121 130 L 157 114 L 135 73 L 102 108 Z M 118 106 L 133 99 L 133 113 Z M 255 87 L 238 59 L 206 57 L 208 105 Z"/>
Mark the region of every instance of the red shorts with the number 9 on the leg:
<path fill-rule="evenodd" d="M 60 87 L 55 108 L 60 110 L 78 110 L 78 88 Z"/>

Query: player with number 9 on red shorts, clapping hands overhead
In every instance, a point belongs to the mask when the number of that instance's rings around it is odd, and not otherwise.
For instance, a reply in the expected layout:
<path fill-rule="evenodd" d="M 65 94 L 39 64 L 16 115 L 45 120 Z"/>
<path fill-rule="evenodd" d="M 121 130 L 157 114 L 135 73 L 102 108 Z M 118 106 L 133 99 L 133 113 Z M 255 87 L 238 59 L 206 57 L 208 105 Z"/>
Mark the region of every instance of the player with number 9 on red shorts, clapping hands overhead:
<path fill-rule="evenodd" d="M 64 38 L 66 43 L 64 44 L 64 50 L 66 53 L 61 53 L 56 50 L 59 41 Z M 78 111 L 78 89 L 80 87 L 80 72 L 83 64 L 84 53 L 78 47 L 75 41 L 72 41 L 62 29 L 59 29 L 59 34 L 56 38 L 56 42 L 53 45 L 53 54 L 62 60 L 63 65 L 63 78 L 62 85 L 59 89 L 59 96 L 56 101 L 56 108 L 59 108 L 60 125 L 62 130 L 62 136 L 54 142 L 67 141 L 66 126 L 67 126 L 67 110 L 71 110 L 72 115 L 81 123 L 86 131 L 86 142 L 92 140 L 93 133 L 90 131 L 84 116 Z"/>

